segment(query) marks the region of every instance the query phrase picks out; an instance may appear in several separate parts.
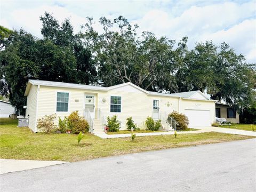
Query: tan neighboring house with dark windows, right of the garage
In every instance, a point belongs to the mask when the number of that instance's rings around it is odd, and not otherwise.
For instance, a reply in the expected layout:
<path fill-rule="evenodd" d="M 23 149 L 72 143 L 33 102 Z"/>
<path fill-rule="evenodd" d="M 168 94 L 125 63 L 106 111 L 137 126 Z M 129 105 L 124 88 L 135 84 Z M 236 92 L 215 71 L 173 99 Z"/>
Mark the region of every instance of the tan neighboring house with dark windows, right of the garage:
<path fill-rule="evenodd" d="M 216 117 L 226 118 L 227 122 L 239 123 L 239 114 L 237 111 L 229 105 L 216 103 L 215 107 Z"/>

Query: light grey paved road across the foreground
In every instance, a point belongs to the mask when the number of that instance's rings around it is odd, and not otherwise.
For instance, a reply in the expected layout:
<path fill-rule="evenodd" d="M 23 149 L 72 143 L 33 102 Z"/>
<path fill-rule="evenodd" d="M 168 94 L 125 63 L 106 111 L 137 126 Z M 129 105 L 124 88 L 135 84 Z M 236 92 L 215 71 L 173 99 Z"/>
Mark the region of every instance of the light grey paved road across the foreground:
<path fill-rule="evenodd" d="M 256 191 L 256 139 L 7 173 L 3 191 Z"/>

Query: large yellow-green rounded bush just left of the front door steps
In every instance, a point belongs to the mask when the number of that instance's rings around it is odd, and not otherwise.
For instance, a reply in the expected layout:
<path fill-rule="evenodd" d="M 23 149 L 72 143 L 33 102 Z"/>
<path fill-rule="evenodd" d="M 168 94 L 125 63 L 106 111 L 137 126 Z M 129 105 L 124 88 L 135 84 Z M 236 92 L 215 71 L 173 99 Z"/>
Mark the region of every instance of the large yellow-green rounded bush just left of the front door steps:
<path fill-rule="evenodd" d="M 79 132 L 86 133 L 89 131 L 88 122 L 79 116 L 78 111 L 73 111 L 68 116 L 68 129 L 71 130 L 71 133 L 76 134 Z"/>

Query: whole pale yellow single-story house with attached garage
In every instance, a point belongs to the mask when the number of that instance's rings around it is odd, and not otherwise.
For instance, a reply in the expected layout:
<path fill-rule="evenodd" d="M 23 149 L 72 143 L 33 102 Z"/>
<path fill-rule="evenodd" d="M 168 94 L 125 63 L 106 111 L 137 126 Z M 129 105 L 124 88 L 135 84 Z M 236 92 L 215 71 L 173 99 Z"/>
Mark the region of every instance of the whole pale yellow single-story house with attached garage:
<path fill-rule="evenodd" d="M 34 132 L 38 118 L 55 113 L 63 119 L 76 110 L 94 131 L 103 130 L 103 119 L 113 115 L 117 115 L 121 129 L 126 129 L 127 117 L 144 128 L 148 116 L 161 119 L 165 128 L 167 115 L 173 111 L 185 114 L 190 127 L 211 126 L 215 122 L 216 101 L 201 91 L 165 94 L 146 91 L 132 83 L 100 87 L 30 79 L 25 96 L 26 117 Z"/>

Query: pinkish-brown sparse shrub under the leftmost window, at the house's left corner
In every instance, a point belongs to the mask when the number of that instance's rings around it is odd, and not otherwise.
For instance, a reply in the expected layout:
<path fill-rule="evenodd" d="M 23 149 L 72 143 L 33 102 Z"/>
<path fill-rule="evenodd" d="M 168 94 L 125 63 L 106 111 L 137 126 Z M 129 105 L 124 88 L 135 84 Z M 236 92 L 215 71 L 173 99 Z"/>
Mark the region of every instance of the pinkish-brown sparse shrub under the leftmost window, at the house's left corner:
<path fill-rule="evenodd" d="M 57 126 L 54 124 L 56 117 L 56 114 L 52 114 L 39 118 L 37 120 L 37 128 L 45 133 L 53 133 L 57 130 Z"/>

